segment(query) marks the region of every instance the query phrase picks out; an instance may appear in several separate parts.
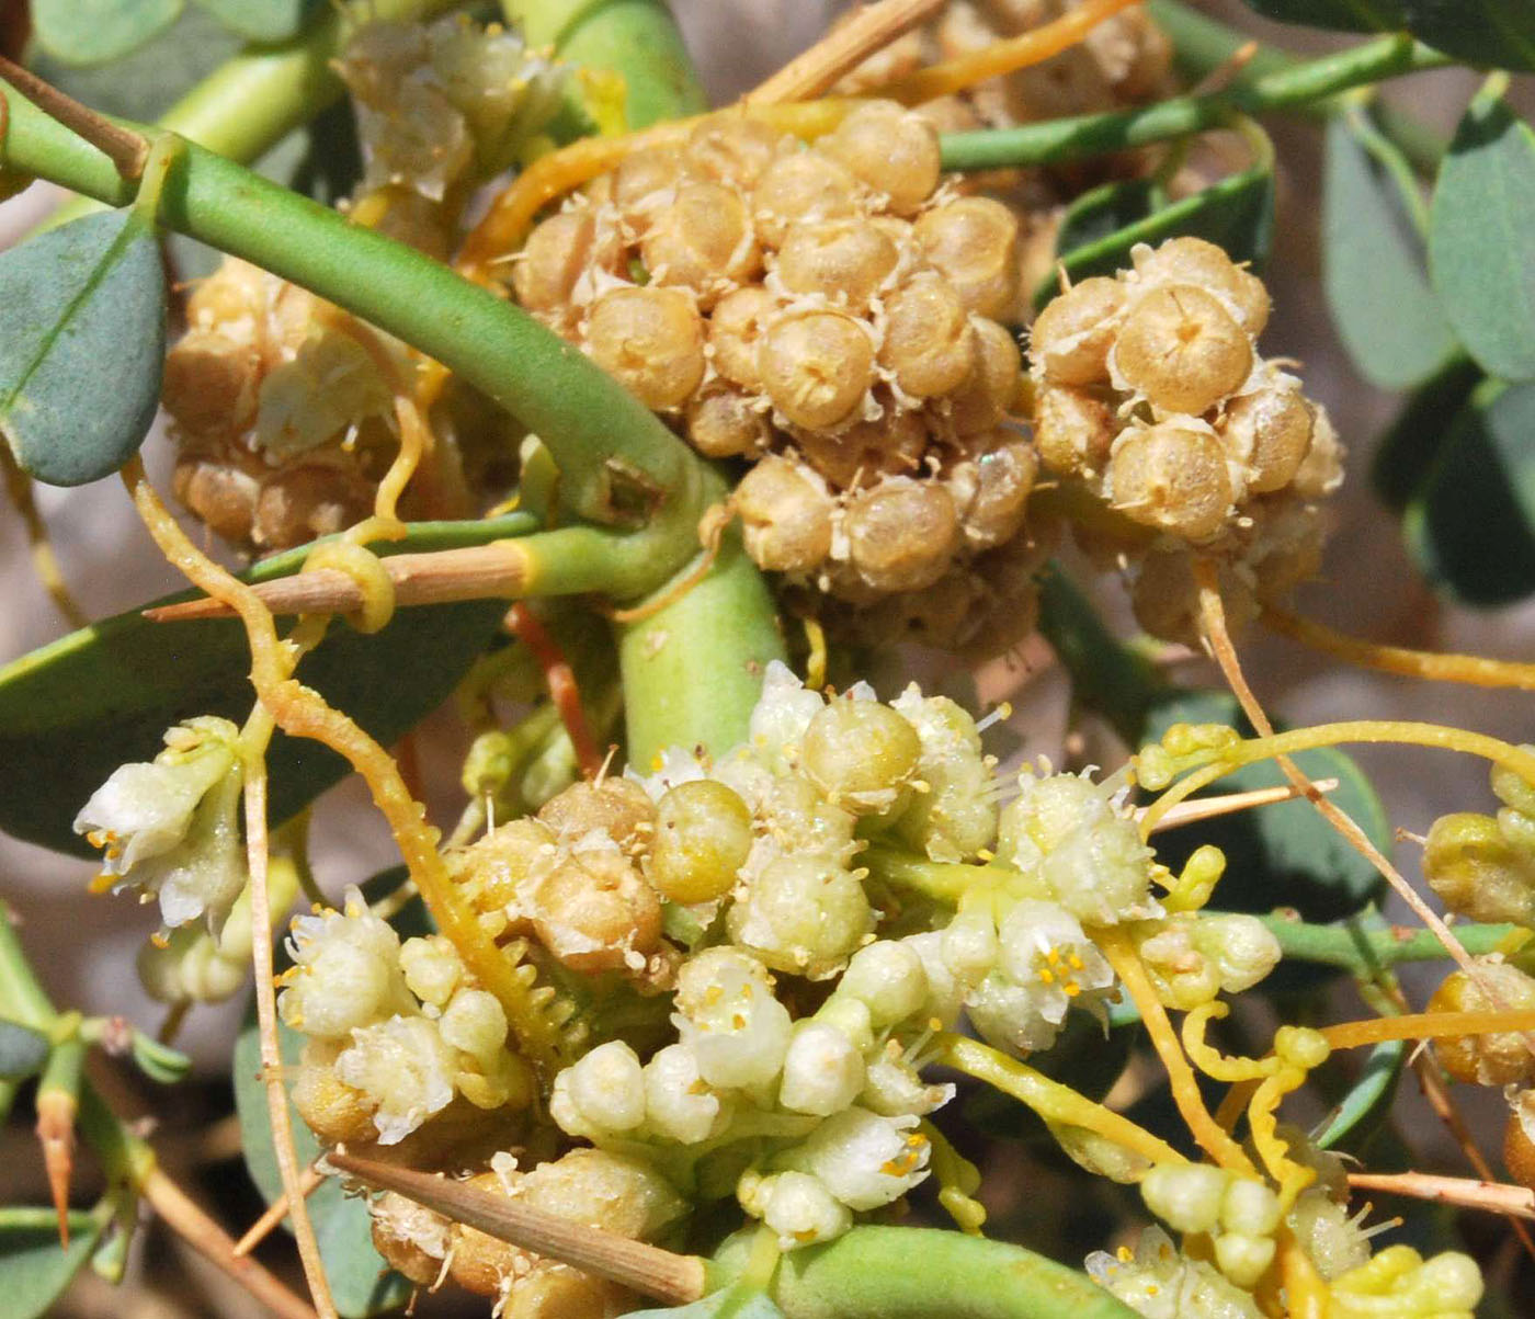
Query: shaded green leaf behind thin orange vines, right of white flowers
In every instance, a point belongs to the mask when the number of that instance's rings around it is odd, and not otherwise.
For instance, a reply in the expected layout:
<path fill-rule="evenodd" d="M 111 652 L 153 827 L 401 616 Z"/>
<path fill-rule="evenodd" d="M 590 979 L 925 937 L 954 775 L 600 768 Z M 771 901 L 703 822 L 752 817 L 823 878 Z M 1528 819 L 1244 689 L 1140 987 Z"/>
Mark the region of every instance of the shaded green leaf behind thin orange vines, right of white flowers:
<path fill-rule="evenodd" d="M 1145 740 L 1159 739 L 1174 723 L 1230 723 L 1249 732 L 1236 699 L 1222 691 L 1179 691 L 1159 700 L 1148 717 Z M 1337 779 L 1328 794 L 1388 857 L 1392 831 L 1385 808 L 1358 763 L 1323 748 L 1291 757 L 1309 779 Z M 1276 788 L 1285 775 L 1271 760 L 1243 765 L 1213 783 L 1210 794 Z M 1352 915 L 1380 895 L 1383 880 L 1305 800 L 1282 802 L 1156 835 L 1157 860 L 1174 871 L 1202 843 L 1220 848 L 1226 872 L 1216 888 L 1222 911 L 1269 912 L 1296 907 L 1308 921 Z"/>

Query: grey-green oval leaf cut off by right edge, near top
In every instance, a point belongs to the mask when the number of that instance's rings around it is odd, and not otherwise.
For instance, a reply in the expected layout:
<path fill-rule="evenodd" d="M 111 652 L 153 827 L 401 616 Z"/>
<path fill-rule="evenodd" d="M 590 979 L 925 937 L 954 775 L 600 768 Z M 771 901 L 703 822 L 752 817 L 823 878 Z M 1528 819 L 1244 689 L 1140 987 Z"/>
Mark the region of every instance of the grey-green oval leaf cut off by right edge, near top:
<path fill-rule="evenodd" d="M 1490 376 L 1535 379 L 1535 132 L 1478 95 L 1434 184 L 1429 266 L 1455 333 Z"/>

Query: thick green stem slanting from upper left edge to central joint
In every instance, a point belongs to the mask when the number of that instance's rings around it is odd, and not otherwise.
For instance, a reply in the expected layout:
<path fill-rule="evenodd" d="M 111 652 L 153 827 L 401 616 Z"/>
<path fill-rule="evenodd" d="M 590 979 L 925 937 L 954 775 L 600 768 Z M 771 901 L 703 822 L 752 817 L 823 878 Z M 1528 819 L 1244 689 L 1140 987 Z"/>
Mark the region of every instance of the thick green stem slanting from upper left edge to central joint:
<path fill-rule="evenodd" d="M 101 152 L 5 95 L 5 164 L 112 206 L 132 201 L 132 184 Z M 697 498 L 701 464 L 639 399 L 533 316 L 430 256 L 196 146 L 166 178 L 160 220 L 451 367 L 543 438 L 577 514 L 643 521 Z"/>

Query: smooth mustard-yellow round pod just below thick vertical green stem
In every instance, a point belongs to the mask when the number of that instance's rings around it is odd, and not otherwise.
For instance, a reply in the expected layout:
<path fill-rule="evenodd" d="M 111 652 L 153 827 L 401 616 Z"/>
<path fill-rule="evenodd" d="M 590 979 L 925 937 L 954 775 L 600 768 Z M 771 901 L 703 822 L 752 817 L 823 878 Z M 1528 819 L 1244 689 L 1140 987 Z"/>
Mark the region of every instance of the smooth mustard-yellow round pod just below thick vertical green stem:
<path fill-rule="evenodd" d="M 645 877 L 677 903 L 706 903 L 735 886 L 752 849 L 752 812 L 723 783 L 678 783 L 655 803 L 655 841 Z"/>

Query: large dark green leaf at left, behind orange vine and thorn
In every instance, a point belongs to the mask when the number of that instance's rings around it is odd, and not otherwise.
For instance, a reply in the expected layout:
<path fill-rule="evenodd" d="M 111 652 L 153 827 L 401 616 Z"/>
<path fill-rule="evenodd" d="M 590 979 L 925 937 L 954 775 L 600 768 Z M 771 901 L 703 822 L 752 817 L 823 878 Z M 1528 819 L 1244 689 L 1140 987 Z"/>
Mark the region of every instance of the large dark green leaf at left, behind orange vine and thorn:
<path fill-rule="evenodd" d="M 531 525 L 527 514 L 418 524 L 379 553 L 485 544 Z M 264 582 L 293 573 L 312 548 L 276 554 L 244 577 Z M 298 677 L 388 745 L 448 697 L 503 613 L 497 600 L 405 608 L 375 636 L 336 622 Z M 0 668 L 0 829 L 91 855 L 72 829 L 86 798 L 118 765 L 154 759 L 172 725 L 195 714 L 244 719 L 253 700 L 249 671 L 238 622 L 154 623 L 138 610 Z M 319 743 L 282 734 L 267 765 L 273 821 L 296 814 L 347 772 Z"/>

